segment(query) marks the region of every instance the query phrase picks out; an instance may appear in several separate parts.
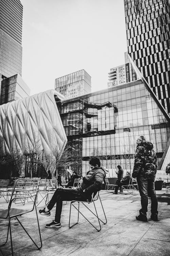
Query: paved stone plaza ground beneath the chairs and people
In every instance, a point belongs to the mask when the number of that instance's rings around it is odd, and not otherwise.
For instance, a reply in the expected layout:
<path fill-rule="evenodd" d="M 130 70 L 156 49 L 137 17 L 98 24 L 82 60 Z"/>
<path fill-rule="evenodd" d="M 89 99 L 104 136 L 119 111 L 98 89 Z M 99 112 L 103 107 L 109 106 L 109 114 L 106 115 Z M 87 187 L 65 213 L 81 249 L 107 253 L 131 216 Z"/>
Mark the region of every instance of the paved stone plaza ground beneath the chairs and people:
<path fill-rule="evenodd" d="M 39 215 L 39 224 L 43 247 L 37 250 L 27 234 L 23 231 L 16 219 L 12 219 L 12 236 L 14 255 L 17 256 L 169 256 L 170 255 L 170 199 L 166 198 L 166 189 L 156 191 L 158 196 L 158 222 L 150 219 L 150 199 L 148 222 L 136 221 L 140 209 L 140 196 L 138 191 L 133 194 L 113 195 L 112 192 L 101 191 L 100 196 L 107 217 L 107 224 L 102 225 L 97 232 L 83 217 L 79 224 L 69 229 L 70 202 L 64 202 L 61 225 L 59 229 L 45 228 L 45 224 L 54 219 L 55 207 L 51 216 Z M 102 218 L 100 204 L 97 201 L 99 215 Z M 7 208 L 7 203 L 0 198 L 0 210 Z M 90 207 L 93 205 L 90 204 Z M 30 203 L 24 206 L 14 204 L 15 208 L 30 208 Z M 44 203 L 40 203 L 37 210 L 42 209 Z M 82 207 L 95 225 L 96 220 L 86 209 Z M 38 229 L 36 213 L 31 212 L 20 216 L 21 222 L 28 229 L 33 238 L 38 242 Z M 76 212 L 73 212 L 72 223 L 76 220 Z M 7 231 L 7 221 L 0 220 L 0 243 L 4 241 Z M 10 240 L 1 247 L 4 255 L 11 255 Z M 0 252 L 0 255 L 3 255 Z"/>

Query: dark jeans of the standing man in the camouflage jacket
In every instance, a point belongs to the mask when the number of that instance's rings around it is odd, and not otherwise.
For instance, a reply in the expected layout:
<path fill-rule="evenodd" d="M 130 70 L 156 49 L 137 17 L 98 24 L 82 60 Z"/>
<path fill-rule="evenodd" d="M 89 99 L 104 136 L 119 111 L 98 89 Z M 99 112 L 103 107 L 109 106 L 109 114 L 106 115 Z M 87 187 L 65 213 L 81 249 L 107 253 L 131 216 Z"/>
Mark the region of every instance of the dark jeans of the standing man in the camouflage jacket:
<path fill-rule="evenodd" d="M 155 193 L 155 178 L 147 178 L 139 176 L 137 177 L 137 184 L 139 187 L 139 193 L 141 197 L 141 209 L 140 212 L 147 213 L 148 211 L 148 196 L 151 198 L 151 213 L 158 213 L 158 201 Z"/>

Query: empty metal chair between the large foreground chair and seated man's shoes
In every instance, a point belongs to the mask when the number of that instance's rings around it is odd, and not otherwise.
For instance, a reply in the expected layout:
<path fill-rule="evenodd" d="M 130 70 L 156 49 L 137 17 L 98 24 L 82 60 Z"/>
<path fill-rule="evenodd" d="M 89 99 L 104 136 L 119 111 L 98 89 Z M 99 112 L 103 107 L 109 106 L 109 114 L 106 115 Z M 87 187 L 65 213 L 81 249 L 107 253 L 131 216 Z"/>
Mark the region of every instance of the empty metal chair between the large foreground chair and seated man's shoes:
<path fill-rule="evenodd" d="M 37 205 L 36 206 L 38 206 L 43 200 L 45 201 L 45 204 L 47 205 L 48 193 L 49 193 L 49 183 L 48 183 L 48 180 L 47 179 L 40 180 L 38 195 L 41 196 L 41 200 L 38 203 L 38 196 L 37 196 Z"/>

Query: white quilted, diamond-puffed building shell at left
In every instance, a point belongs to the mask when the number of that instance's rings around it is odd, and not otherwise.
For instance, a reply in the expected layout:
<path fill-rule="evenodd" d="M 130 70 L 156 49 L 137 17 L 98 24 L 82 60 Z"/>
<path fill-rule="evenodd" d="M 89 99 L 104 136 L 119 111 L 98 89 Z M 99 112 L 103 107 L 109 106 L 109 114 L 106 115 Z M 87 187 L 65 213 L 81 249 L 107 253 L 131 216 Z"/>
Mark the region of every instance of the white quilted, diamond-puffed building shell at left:
<path fill-rule="evenodd" d="M 21 100 L 0 106 L 1 152 L 4 155 L 14 150 L 28 153 L 36 145 L 42 158 L 52 155 L 56 146 L 62 152 L 67 137 L 55 103 L 54 95 L 65 97 L 55 90 L 48 90 Z"/>

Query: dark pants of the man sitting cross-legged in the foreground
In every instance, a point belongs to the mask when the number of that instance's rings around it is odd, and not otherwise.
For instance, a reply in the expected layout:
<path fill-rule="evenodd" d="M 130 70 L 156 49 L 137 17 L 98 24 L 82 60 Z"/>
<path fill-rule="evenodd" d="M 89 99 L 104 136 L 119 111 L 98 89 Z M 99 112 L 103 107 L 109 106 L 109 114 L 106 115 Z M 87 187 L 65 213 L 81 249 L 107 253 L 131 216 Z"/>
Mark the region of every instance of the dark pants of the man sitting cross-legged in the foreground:
<path fill-rule="evenodd" d="M 72 201 L 72 200 L 80 200 L 86 201 L 84 197 L 80 194 L 79 190 L 75 190 L 73 188 L 57 188 L 52 196 L 47 208 L 51 210 L 55 203 L 56 203 L 56 210 L 55 210 L 55 222 L 60 223 L 61 212 L 63 201 Z"/>

